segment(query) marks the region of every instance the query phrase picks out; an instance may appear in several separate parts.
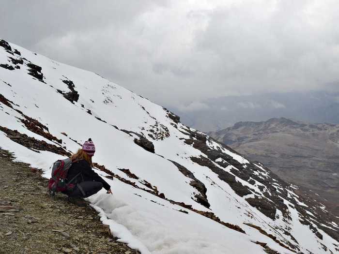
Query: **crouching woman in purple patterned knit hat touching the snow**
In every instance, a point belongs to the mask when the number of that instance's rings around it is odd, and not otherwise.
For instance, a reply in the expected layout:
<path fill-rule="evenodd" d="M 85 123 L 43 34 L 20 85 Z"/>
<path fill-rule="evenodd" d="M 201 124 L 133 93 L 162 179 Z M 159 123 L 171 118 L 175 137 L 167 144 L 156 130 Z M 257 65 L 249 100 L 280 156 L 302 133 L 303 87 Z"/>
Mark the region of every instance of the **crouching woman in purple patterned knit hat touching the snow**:
<path fill-rule="evenodd" d="M 71 156 L 72 165 L 68 170 L 67 179 L 75 178 L 72 181 L 75 187 L 72 191 L 65 193 L 69 197 L 89 197 L 100 191 L 102 187 L 107 190 L 108 194 L 112 194 L 109 184 L 92 169 L 94 152 L 95 146 L 89 138 L 82 145 L 82 149 L 78 149 L 77 153 Z"/>

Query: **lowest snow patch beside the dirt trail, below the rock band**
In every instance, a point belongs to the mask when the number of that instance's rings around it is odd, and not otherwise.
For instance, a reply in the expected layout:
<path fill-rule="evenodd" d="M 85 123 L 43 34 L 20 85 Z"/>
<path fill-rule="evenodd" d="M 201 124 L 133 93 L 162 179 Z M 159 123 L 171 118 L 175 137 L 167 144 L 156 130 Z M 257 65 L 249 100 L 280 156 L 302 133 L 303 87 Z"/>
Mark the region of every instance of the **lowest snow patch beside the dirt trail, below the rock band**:
<path fill-rule="evenodd" d="M 93 195 L 90 201 L 96 208 L 100 208 L 98 210 L 101 211 L 100 215 L 104 223 L 112 225 L 111 228 L 114 228 L 112 233 L 123 242 L 137 246 L 142 254 L 220 254 L 225 250 L 241 254 L 244 253 L 244 249 L 251 248 L 256 253 L 264 253 L 242 233 L 215 222 L 211 224 L 209 219 L 191 211 L 185 214 L 168 209 L 169 202 L 154 198 L 150 194 L 140 193 L 139 190 L 132 191 L 130 186 L 119 181 L 113 183 L 108 179 L 108 182 L 114 186 L 113 197 L 103 191 Z M 141 194 L 142 197 L 131 195 L 131 192 Z M 128 196 L 129 199 L 121 200 L 123 196 Z M 148 206 L 145 206 L 145 199 L 148 200 Z M 165 207 L 149 200 L 162 203 Z M 175 209 L 182 208 L 175 207 Z M 118 227 L 115 227 L 116 225 Z M 192 228 L 195 230 L 192 231 Z M 141 239 L 143 248 L 134 236 Z M 229 242 L 233 244 L 230 246 Z M 238 248 L 238 246 L 242 247 Z"/>

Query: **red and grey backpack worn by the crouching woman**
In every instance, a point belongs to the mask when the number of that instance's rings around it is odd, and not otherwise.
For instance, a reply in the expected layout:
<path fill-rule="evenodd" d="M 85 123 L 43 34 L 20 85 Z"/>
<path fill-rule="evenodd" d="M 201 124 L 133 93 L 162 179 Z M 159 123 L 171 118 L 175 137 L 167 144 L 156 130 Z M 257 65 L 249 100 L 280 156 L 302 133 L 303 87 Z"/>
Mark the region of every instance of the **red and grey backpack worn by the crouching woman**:
<path fill-rule="evenodd" d="M 48 190 L 51 195 L 58 192 L 71 191 L 75 184 L 72 183 L 74 179 L 80 174 L 78 173 L 73 179 L 66 183 L 66 177 L 69 168 L 72 166 L 70 158 L 56 161 L 52 167 L 52 177 L 48 181 Z"/>

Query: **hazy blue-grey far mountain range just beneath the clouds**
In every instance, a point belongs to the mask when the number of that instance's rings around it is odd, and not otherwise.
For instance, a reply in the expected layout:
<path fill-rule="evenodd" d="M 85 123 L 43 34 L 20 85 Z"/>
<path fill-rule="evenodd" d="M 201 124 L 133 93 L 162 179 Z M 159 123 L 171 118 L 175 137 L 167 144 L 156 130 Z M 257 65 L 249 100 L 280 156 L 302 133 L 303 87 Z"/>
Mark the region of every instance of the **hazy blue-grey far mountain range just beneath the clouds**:
<path fill-rule="evenodd" d="M 227 96 L 169 108 L 184 124 L 203 132 L 279 117 L 339 124 L 339 93 L 329 91 Z"/>

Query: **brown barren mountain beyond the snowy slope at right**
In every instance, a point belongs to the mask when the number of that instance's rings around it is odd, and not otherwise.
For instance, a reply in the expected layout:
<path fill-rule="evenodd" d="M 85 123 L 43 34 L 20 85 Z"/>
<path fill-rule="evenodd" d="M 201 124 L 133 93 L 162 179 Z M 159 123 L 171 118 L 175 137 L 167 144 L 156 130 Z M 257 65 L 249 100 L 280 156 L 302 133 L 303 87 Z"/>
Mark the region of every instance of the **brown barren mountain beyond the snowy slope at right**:
<path fill-rule="evenodd" d="M 261 161 L 282 179 L 320 194 L 339 216 L 338 124 L 272 118 L 237 122 L 209 135 Z"/>

